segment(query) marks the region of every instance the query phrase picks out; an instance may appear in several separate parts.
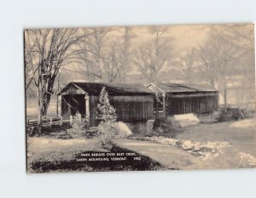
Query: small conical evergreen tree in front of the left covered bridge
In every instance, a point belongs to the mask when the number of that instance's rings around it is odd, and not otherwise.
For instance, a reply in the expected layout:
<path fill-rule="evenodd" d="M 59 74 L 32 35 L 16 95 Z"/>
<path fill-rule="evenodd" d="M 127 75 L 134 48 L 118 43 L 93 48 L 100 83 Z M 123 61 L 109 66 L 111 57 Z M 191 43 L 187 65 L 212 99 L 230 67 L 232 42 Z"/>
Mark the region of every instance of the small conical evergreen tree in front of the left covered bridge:
<path fill-rule="evenodd" d="M 107 122 L 109 124 L 113 124 L 113 122 L 116 121 L 117 116 L 115 113 L 115 109 L 112 105 L 109 104 L 108 91 L 105 87 L 102 88 L 97 108 L 97 119 L 102 120 L 103 122 Z"/>

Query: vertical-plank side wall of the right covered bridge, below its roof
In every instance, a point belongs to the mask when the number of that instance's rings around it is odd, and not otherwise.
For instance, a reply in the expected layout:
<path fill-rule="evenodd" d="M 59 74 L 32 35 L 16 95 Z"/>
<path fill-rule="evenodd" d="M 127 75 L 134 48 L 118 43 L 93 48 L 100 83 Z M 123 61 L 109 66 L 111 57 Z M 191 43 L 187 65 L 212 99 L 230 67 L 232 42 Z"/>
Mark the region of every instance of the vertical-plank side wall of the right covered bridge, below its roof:
<path fill-rule="evenodd" d="M 187 113 L 206 114 L 218 110 L 218 93 L 168 94 L 166 101 L 168 116 Z"/>

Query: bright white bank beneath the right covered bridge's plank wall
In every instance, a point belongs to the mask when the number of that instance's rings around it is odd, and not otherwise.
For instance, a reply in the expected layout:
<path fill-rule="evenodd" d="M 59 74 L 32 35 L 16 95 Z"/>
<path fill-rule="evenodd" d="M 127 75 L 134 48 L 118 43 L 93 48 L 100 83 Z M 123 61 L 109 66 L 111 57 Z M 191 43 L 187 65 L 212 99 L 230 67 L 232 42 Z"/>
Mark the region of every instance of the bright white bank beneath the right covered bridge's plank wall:
<path fill-rule="evenodd" d="M 198 124 L 200 120 L 194 114 L 189 113 L 174 115 L 173 117 L 171 117 L 171 122 L 177 127 L 188 127 Z"/>

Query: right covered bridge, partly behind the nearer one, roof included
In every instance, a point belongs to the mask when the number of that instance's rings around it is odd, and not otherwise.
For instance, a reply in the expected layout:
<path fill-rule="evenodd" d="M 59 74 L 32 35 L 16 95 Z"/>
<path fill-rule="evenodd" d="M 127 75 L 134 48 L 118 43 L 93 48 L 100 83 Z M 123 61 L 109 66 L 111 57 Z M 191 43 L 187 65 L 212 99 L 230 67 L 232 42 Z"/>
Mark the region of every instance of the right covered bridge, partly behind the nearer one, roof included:
<path fill-rule="evenodd" d="M 218 110 L 218 91 L 214 88 L 198 85 L 184 85 L 178 83 L 149 83 L 147 85 L 153 93 L 158 93 L 159 109 L 166 116 L 195 113 L 197 115 L 212 114 Z"/>

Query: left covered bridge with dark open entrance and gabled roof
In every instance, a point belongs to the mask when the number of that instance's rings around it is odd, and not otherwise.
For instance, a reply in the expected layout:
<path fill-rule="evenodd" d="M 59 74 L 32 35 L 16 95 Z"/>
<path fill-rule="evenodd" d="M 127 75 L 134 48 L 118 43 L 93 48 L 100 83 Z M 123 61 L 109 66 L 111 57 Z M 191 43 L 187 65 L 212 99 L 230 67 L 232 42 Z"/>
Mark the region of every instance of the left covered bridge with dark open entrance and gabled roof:
<path fill-rule="evenodd" d="M 152 92 L 140 83 L 70 82 L 58 93 L 60 115 L 69 117 L 77 111 L 88 116 L 90 126 L 96 126 L 97 104 L 102 88 L 108 91 L 109 102 L 122 122 L 147 121 L 154 118 Z"/>

